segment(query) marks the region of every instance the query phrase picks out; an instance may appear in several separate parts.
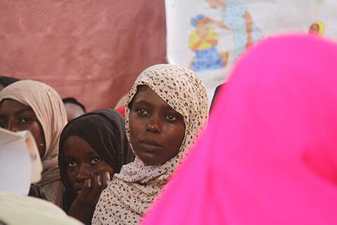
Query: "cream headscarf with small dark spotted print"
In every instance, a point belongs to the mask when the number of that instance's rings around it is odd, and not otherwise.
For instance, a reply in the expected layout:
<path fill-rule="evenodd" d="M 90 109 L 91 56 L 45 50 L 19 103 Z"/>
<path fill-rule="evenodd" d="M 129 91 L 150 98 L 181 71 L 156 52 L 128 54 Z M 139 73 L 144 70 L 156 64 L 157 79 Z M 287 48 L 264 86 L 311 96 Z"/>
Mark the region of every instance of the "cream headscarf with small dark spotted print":
<path fill-rule="evenodd" d="M 93 224 L 138 224 L 147 207 L 157 197 L 173 171 L 185 157 L 206 124 L 207 92 L 192 70 L 175 65 L 154 65 L 136 79 L 127 104 L 137 92 L 137 86 L 147 85 L 183 115 L 185 137 L 176 157 L 162 165 L 145 165 L 138 157 L 122 167 L 100 195 L 93 215 Z M 130 140 L 130 108 L 126 108 L 126 136 Z M 174 141 L 174 140 L 173 140 Z M 132 148 L 132 146 L 131 146 Z"/>

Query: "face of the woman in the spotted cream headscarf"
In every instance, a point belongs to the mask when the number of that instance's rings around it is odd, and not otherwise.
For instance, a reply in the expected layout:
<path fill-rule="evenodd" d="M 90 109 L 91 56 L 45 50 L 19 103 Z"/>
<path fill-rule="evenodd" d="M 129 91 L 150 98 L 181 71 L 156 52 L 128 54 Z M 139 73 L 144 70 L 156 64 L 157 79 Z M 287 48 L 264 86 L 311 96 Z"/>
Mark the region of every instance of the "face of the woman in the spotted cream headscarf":
<path fill-rule="evenodd" d="M 129 127 L 133 150 L 147 165 L 176 156 L 185 136 L 183 116 L 145 85 L 131 103 Z"/>

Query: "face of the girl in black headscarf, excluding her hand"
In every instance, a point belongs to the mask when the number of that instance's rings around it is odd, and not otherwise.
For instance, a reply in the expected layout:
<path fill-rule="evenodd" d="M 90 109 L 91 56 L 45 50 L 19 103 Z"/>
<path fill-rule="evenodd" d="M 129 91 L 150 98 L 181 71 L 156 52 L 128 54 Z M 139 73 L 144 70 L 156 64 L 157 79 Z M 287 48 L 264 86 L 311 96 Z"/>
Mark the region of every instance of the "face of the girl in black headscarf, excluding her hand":
<path fill-rule="evenodd" d="M 84 188 L 84 181 L 92 179 L 94 175 L 108 172 L 114 174 L 110 167 L 91 146 L 79 136 L 69 136 L 63 147 L 67 179 L 72 191 L 79 195 Z"/>

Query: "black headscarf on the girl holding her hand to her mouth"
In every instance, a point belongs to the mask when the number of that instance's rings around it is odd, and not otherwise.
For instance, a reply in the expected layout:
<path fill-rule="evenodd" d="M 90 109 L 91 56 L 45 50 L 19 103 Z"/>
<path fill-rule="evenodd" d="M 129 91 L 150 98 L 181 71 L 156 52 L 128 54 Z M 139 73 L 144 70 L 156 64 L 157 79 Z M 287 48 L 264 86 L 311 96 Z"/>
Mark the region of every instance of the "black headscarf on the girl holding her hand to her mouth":
<path fill-rule="evenodd" d="M 67 198 L 73 199 L 74 193 L 67 179 L 64 145 L 67 138 L 72 135 L 84 139 L 116 173 L 119 173 L 122 165 L 134 160 L 128 139 L 126 139 L 124 119 L 119 113 L 114 110 L 98 110 L 77 117 L 65 126 L 60 136 L 58 166 Z M 67 202 L 65 203 L 66 211 L 72 200 L 67 199 Z"/>

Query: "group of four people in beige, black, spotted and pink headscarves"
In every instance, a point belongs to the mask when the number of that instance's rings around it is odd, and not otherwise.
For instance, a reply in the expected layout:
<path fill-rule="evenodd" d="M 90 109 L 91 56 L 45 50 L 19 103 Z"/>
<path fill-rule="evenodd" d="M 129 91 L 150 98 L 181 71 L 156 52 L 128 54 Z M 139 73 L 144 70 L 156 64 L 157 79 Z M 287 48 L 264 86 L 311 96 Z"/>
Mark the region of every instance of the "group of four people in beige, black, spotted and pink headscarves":
<path fill-rule="evenodd" d="M 22 80 L 0 91 L 0 125 L 37 142 L 29 195 L 84 224 L 336 224 L 336 58 L 333 41 L 266 39 L 238 60 L 209 121 L 204 85 L 176 65 L 138 76 L 125 118 L 67 122 L 51 86 Z"/>

